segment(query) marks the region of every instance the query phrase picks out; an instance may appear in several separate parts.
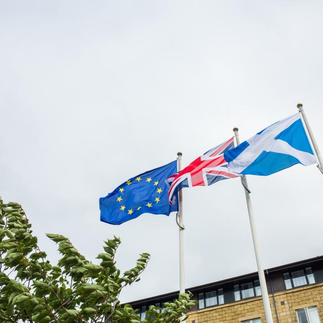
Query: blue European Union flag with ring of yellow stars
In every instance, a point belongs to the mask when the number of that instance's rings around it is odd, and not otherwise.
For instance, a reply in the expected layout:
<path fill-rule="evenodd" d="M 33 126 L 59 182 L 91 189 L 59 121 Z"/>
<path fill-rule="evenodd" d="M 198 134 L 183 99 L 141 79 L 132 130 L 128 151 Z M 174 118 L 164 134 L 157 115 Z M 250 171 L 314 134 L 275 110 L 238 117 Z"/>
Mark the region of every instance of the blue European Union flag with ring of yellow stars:
<path fill-rule="evenodd" d="M 99 200 L 102 222 L 119 225 L 142 213 L 165 214 L 178 211 L 168 200 L 167 179 L 177 173 L 177 161 L 130 178 Z"/>

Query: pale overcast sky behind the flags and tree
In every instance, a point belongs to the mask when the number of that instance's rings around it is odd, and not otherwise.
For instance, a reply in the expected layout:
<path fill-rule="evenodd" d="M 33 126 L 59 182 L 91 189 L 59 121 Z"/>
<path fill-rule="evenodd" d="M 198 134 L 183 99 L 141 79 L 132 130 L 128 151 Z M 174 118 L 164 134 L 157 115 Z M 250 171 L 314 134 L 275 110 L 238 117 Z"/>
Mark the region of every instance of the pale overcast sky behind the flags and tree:
<path fill-rule="evenodd" d="M 0 194 L 88 259 L 118 235 L 122 301 L 179 289 L 175 214 L 112 226 L 98 199 L 183 152 L 183 166 L 304 104 L 323 150 L 321 1 L 0 2 Z M 249 176 L 264 267 L 323 254 L 323 176 Z M 256 271 L 239 178 L 184 191 L 186 287 Z"/>

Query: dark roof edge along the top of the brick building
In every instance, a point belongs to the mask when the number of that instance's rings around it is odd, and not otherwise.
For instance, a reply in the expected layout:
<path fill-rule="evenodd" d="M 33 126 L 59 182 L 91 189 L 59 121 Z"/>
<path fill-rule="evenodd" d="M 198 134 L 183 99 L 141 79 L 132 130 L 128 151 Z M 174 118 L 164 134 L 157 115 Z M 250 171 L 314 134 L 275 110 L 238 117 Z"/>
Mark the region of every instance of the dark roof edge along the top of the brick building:
<path fill-rule="evenodd" d="M 291 267 L 297 267 L 299 265 L 306 265 L 306 264 L 316 262 L 316 261 L 319 261 L 319 260 L 323 260 L 323 255 L 316 256 L 316 257 L 313 257 L 313 258 L 308 258 L 308 259 L 305 259 L 305 260 L 299 260 L 299 261 L 283 264 L 283 265 L 280 265 L 280 266 L 277 266 L 277 267 L 268 268 L 268 269 L 265 269 L 265 272 L 267 272 L 268 274 L 275 273 L 275 272 L 284 270 L 284 268 L 291 268 Z M 227 283 L 230 283 L 230 282 L 244 280 L 244 279 L 246 279 L 248 277 L 252 278 L 254 276 L 258 276 L 258 272 L 253 272 L 253 273 L 249 273 L 249 274 L 245 274 L 245 275 L 240 275 L 240 276 L 236 276 L 236 277 L 232 277 L 232 278 L 227 278 L 227 279 L 224 279 L 224 280 L 221 280 L 221 281 L 216 281 L 216 282 L 207 283 L 207 284 L 203 284 L 203 285 L 199 285 L 199 286 L 194 286 L 194 287 L 191 287 L 191 288 L 186 288 L 185 291 L 186 292 L 187 291 L 196 291 L 196 290 L 203 289 L 203 288 L 210 288 L 212 286 L 224 285 L 224 284 L 227 284 Z M 165 299 L 165 298 L 175 296 L 175 295 L 178 295 L 178 294 L 179 294 L 179 291 L 175 291 L 175 292 L 171 292 L 171 293 L 160 294 L 160 295 L 157 295 L 157 296 L 147 297 L 147 298 L 143 298 L 143 299 L 140 299 L 140 300 L 128 302 L 127 304 L 136 305 L 136 304 L 139 304 L 139 303 L 149 302 L 151 300 L 158 301 L 158 299 Z"/>

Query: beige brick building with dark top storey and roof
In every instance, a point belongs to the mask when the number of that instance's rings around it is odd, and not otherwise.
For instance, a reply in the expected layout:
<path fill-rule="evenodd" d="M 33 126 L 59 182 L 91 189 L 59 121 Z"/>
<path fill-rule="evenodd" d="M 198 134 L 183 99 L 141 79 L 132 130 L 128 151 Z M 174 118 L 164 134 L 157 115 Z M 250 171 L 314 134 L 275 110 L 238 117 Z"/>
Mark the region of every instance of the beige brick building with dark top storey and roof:
<path fill-rule="evenodd" d="M 274 323 L 323 323 L 323 256 L 265 270 Z M 188 288 L 197 301 L 187 323 L 265 323 L 257 273 Z M 177 292 L 130 304 L 141 320 L 149 305 L 177 298 Z"/>

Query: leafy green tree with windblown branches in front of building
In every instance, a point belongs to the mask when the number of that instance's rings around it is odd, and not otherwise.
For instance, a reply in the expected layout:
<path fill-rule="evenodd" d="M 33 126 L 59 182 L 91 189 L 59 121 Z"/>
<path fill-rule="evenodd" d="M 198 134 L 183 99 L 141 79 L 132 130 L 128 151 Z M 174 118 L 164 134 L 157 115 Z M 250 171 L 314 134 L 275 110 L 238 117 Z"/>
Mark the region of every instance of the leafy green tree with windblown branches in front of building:
<path fill-rule="evenodd" d="M 115 254 L 121 243 L 116 236 L 104 241 L 99 264 L 85 259 L 70 240 L 47 234 L 62 254 L 57 265 L 46 260 L 37 237 L 18 203 L 0 198 L 0 321 L 1 322 L 105 322 L 139 323 L 129 304 L 121 304 L 121 290 L 140 280 L 150 255 L 141 253 L 136 265 L 121 274 Z M 160 308 L 149 306 L 145 322 L 176 323 L 194 305 L 180 294 Z"/>

